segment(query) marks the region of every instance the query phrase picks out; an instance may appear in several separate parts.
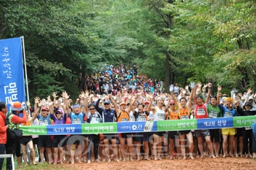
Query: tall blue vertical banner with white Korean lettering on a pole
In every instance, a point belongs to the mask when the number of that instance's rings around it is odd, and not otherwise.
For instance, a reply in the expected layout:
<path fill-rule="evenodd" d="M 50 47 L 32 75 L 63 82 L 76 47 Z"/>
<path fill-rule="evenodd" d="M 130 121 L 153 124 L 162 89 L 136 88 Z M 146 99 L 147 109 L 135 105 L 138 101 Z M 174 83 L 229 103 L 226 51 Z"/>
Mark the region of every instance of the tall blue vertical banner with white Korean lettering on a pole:
<path fill-rule="evenodd" d="M 0 101 L 25 101 L 21 38 L 0 40 Z"/>

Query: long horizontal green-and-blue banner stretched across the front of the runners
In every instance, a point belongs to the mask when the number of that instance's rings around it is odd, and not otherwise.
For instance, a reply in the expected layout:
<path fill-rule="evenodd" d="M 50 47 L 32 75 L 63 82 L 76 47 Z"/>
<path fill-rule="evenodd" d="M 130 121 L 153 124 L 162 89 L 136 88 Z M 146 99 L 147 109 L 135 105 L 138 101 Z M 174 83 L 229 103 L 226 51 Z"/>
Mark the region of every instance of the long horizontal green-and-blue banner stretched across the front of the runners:
<path fill-rule="evenodd" d="M 64 125 L 20 125 L 23 135 L 116 134 L 153 131 L 184 131 L 212 128 L 251 127 L 256 116 L 219 117 L 211 119 L 161 120 L 127 123 L 83 123 Z"/>

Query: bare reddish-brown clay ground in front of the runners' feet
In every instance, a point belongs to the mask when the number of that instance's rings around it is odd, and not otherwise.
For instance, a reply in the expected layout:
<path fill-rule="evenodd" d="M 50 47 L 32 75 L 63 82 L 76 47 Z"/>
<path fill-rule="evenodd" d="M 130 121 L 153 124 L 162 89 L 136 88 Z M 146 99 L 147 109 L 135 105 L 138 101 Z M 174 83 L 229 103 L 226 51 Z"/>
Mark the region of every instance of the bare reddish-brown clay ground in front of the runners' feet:
<path fill-rule="evenodd" d="M 75 164 L 57 164 L 51 165 L 53 169 L 182 169 L 182 170 L 242 170 L 256 169 L 256 160 L 252 158 L 195 158 L 195 160 L 169 160 L 162 161 L 120 161 L 120 162 L 100 162 L 91 164 L 75 163 Z"/>

